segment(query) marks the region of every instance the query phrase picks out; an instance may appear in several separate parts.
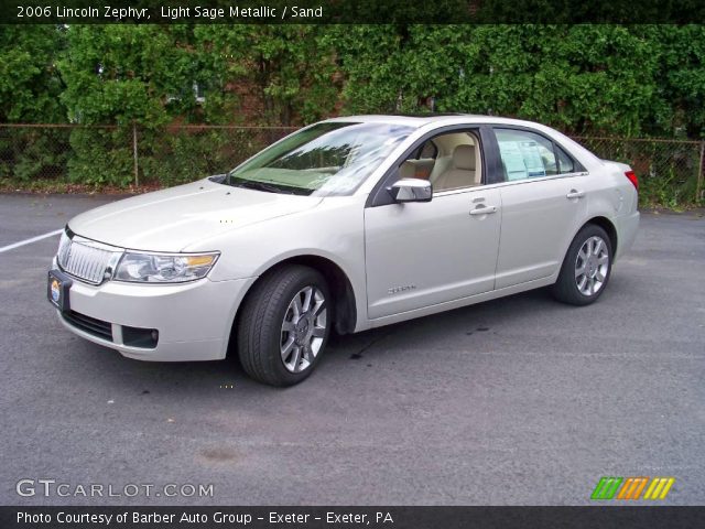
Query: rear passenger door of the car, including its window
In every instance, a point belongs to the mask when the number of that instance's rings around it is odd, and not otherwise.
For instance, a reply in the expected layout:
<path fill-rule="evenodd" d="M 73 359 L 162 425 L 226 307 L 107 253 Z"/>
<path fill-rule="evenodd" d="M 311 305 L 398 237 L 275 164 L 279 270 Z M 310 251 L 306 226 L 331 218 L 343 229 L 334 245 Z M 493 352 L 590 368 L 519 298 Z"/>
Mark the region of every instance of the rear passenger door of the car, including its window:
<path fill-rule="evenodd" d="M 587 173 L 551 139 L 496 127 L 505 184 L 496 288 L 546 278 L 587 216 Z"/>

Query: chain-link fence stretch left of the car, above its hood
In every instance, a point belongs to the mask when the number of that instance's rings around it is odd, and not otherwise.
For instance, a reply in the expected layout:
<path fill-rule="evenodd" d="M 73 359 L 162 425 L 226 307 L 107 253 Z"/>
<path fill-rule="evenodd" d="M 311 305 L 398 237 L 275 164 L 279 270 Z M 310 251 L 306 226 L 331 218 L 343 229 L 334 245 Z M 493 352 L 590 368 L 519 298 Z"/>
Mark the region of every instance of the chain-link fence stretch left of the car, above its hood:
<path fill-rule="evenodd" d="M 174 185 L 226 172 L 293 127 L 0 125 L 0 182 Z"/>

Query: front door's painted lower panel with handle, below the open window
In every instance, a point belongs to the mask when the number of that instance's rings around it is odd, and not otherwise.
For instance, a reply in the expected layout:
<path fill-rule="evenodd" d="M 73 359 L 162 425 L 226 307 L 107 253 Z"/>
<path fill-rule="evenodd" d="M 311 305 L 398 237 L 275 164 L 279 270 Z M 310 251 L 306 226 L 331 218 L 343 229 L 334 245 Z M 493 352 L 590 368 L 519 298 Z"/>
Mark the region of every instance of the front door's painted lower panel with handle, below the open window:
<path fill-rule="evenodd" d="M 368 315 L 389 316 L 494 289 L 498 188 L 441 192 L 427 203 L 365 210 Z"/>

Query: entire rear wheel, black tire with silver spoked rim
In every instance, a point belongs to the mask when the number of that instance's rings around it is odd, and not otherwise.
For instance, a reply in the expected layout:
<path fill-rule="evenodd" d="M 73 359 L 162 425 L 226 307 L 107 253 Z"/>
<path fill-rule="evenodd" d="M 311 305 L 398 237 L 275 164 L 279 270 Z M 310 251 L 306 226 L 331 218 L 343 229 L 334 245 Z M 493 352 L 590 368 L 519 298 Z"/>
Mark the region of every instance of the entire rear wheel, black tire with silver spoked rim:
<path fill-rule="evenodd" d="M 607 233 L 588 224 L 578 231 L 568 248 L 553 295 L 564 303 L 587 305 L 605 291 L 612 264 L 612 248 Z"/>

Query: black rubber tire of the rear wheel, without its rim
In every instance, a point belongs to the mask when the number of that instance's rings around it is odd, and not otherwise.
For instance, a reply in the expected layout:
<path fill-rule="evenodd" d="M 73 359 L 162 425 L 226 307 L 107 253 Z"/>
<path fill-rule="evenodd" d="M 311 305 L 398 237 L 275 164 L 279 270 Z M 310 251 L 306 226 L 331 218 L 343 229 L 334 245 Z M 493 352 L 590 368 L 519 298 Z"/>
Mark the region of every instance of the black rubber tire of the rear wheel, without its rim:
<path fill-rule="evenodd" d="M 607 271 L 600 273 L 600 271 L 604 269 L 601 264 L 598 262 L 597 257 L 595 257 L 589 263 L 586 262 L 585 264 L 588 273 L 586 274 L 585 280 L 587 282 L 583 283 L 584 288 L 582 291 L 578 283 L 582 282 L 583 276 L 581 276 L 579 278 L 577 277 L 577 273 L 578 273 L 577 270 L 578 268 L 581 268 L 579 264 L 582 264 L 584 261 L 582 256 L 584 256 L 585 252 L 584 251 L 582 252 L 582 250 L 584 245 L 588 244 L 588 241 L 592 240 L 595 242 L 596 240 L 594 239 L 595 237 L 601 239 L 605 244 L 605 252 L 607 255 L 607 263 L 606 263 Z M 578 260 L 579 252 L 582 253 Z M 600 253 L 600 255 L 604 256 L 605 253 Z M 597 267 L 597 269 L 595 267 Z M 593 270 L 595 270 L 596 274 L 593 278 L 590 278 L 589 276 L 593 272 Z M 551 293 L 556 300 L 562 301 L 563 303 L 568 303 L 571 305 L 589 305 L 590 303 L 594 303 L 595 301 L 597 301 L 597 299 L 603 294 L 603 292 L 607 288 L 607 283 L 609 282 L 609 277 L 611 274 L 611 271 L 612 271 L 612 242 L 609 238 L 609 235 L 607 235 L 607 231 L 605 231 L 603 228 L 600 228 L 596 224 L 587 224 L 583 227 L 583 229 L 581 229 L 577 233 L 577 235 L 573 239 L 573 242 L 571 242 L 568 251 L 566 252 L 565 258 L 563 259 L 563 264 L 561 267 L 558 279 L 555 282 L 555 284 L 551 288 Z M 597 290 L 590 293 L 590 280 L 593 281 L 593 290 L 594 290 L 595 284 L 599 282 L 600 277 L 604 278 L 604 281 L 600 282 Z"/>

